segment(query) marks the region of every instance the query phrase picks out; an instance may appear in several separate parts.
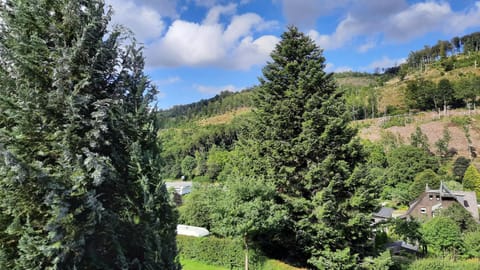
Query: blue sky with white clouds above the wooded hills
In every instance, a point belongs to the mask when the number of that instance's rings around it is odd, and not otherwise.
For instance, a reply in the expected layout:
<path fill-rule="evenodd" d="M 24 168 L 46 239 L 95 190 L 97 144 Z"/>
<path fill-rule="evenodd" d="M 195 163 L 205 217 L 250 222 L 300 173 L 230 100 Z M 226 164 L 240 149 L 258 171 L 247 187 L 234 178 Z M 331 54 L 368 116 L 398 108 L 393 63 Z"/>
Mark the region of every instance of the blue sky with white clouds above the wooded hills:
<path fill-rule="evenodd" d="M 474 0 L 106 0 L 111 25 L 144 46 L 160 109 L 258 85 L 287 26 L 323 49 L 328 72 L 373 72 L 480 31 Z"/>

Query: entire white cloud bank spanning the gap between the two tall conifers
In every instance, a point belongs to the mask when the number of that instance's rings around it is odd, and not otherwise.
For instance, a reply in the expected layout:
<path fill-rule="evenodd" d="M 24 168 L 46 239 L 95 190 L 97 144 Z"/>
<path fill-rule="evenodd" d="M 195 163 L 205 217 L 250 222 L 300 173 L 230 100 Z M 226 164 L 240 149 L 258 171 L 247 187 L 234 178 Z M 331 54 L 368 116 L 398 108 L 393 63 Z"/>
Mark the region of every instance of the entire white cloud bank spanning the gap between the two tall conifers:
<path fill-rule="evenodd" d="M 168 2 L 168 0 L 162 0 Z M 152 1 L 147 1 L 152 2 Z M 256 13 L 237 14 L 237 5 L 211 6 L 202 22 L 174 19 L 166 27 L 162 15 L 143 2 L 116 0 L 113 21 L 129 27 L 145 43 L 149 67 L 204 67 L 248 70 L 264 64 L 279 41 L 262 31 L 276 27 Z M 172 12 L 169 16 L 175 17 Z"/>

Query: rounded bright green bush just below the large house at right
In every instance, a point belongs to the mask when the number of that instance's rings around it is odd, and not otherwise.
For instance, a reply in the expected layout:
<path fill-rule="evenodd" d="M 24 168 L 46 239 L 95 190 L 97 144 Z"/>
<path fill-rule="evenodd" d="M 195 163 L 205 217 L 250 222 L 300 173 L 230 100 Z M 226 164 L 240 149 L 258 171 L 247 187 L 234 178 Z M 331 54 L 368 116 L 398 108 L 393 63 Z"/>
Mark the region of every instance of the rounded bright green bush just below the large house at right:
<path fill-rule="evenodd" d="M 435 254 L 459 254 L 463 250 L 460 227 L 448 217 L 434 217 L 423 224 L 421 232 L 430 251 Z"/>

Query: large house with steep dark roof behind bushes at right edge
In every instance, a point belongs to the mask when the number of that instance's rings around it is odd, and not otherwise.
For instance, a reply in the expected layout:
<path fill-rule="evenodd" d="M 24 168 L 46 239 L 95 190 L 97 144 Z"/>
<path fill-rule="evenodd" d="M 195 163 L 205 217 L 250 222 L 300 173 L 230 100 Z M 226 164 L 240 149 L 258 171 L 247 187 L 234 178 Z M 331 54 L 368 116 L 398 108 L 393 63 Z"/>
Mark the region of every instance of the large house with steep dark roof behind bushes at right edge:
<path fill-rule="evenodd" d="M 405 217 L 430 219 L 434 217 L 440 209 L 446 209 L 455 203 L 460 204 L 477 222 L 479 221 L 477 196 L 475 192 L 450 190 L 443 182 L 440 183 L 439 189 L 430 189 L 428 185 L 426 185 L 425 192 L 410 204 Z"/>

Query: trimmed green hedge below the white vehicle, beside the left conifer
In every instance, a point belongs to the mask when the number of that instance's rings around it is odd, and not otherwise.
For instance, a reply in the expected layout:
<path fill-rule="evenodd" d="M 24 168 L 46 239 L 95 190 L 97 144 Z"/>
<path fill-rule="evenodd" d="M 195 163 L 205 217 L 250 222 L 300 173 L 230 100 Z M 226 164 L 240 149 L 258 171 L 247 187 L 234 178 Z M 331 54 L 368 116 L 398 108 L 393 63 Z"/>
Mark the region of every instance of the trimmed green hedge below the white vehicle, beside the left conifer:
<path fill-rule="evenodd" d="M 178 235 L 177 246 L 180 257 L 228 269 L 244 269 L 245 253 L 239 239 L 209 237 L 189 237 Z M 265 258 L 255 250 L 249 250 L 249 265 L 258 269 Z"/>

